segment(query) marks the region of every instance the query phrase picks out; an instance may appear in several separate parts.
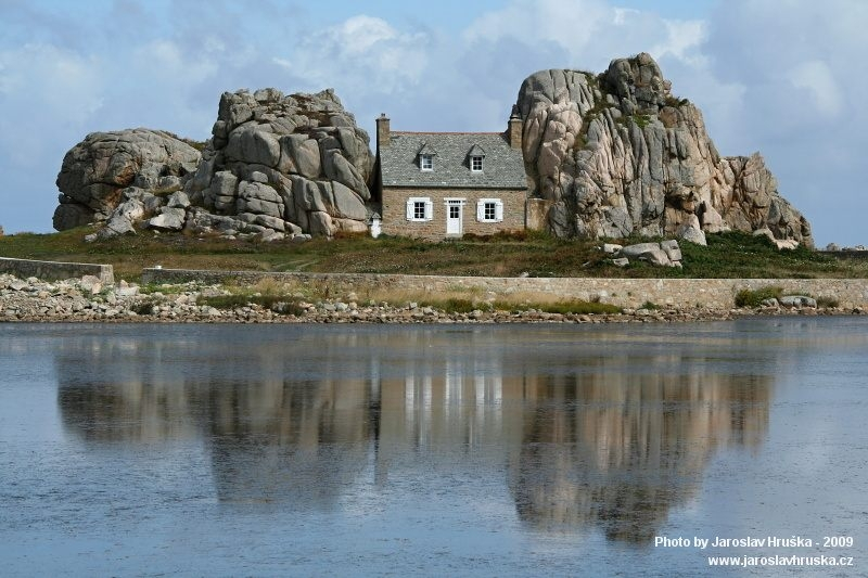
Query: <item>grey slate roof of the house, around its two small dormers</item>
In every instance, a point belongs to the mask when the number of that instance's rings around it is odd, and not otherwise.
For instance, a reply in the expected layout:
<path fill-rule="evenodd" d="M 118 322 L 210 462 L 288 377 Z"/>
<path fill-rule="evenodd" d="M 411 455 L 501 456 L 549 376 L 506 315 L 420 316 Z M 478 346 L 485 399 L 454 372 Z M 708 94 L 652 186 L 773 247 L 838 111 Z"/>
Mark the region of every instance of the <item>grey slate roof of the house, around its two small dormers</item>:
<path fill-rule="evenodd" d="M 469 153 L 485 151 L 482 172 L 470 170 Z M 419 153 L 436 151 L 434 170 L 420 170 Z M 524 158 L 500 132 L 392 132 L 380 146 L 383 187 L 526 189 Z"/>

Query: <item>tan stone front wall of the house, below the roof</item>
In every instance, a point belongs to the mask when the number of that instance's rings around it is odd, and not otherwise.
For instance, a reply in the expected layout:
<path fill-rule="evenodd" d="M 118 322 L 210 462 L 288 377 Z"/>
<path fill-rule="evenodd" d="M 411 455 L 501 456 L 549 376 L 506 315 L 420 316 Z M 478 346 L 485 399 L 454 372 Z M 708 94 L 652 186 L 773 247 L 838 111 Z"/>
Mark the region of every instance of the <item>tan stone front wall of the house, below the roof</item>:
<path fill-rule="evenodd" d="M 417 222 L 407 220 L 407 200 L 430 197 L 434 203 L 434 218 Z M 524 230 L 524 201 L 526 192 L 509 189 L 383 189 L 383 233 L 390 235 L 414 236 L 439 240 L 446 237 L 446 198 L 464 198 L 463 233 L 490 235 L 499 231 Z M 480 222 L 476 220 L 476 202 L 481 198 L 499 198 L 503 202 L 503 220 L 500 222 Z"/>

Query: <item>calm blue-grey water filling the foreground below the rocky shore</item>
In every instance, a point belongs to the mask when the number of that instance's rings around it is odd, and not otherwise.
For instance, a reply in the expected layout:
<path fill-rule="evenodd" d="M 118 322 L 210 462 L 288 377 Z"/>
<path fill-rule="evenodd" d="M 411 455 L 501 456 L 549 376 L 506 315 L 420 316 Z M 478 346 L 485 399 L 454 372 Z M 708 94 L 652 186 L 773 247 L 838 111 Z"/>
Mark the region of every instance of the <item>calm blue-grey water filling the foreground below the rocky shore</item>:
<path fill-rule="evenodd" d="M 858 318 L 0 324 L 2 574 L 865 576 L 866 346 Z M 815 543 L 692 545 L 749 536 Z M 854 565 L 709 567 L 743 554 Z"/>

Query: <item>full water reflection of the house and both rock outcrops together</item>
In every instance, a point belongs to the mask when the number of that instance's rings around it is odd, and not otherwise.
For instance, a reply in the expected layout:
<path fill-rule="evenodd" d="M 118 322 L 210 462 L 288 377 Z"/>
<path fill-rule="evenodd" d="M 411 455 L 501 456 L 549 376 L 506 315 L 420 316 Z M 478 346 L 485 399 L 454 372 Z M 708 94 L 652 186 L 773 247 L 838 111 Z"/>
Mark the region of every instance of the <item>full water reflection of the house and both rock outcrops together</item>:
<path fill-rule="evenodd" d="M 506 484 L 529 528 L 631 542 L 694 494 L 715 450 L 756 445 L 768 426 L 768 378 L 716 373 L 695 351 L 583 357 L 571 344 L 565 358 L 485 332 L 301 335 L 292 357 L 258 339 L 69 339 L 56 357 L 64 423 L 89 442 L 202 436 L 224 502 L 330 509 L 359 483 L 448 486 L 461 471 Z M 201 361 L 173 362 L 179 350 Z M 76 377 L 82 359 L 102 383 Z"/>

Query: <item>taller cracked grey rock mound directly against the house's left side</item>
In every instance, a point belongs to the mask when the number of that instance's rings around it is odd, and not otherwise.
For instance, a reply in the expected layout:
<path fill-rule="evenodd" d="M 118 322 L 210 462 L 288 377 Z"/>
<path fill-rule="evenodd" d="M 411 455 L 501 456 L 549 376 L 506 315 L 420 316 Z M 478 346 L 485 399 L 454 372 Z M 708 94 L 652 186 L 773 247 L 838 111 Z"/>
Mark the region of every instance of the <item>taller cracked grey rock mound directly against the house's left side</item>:
<path fill-rule="evenodd" d="M 184 188 L 194 205 L 279 232 L 367 230 L 370 139 L 332 90 L 225 92 L 212 133 Z"/>

